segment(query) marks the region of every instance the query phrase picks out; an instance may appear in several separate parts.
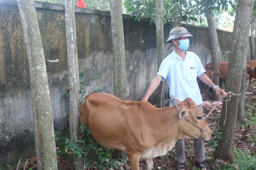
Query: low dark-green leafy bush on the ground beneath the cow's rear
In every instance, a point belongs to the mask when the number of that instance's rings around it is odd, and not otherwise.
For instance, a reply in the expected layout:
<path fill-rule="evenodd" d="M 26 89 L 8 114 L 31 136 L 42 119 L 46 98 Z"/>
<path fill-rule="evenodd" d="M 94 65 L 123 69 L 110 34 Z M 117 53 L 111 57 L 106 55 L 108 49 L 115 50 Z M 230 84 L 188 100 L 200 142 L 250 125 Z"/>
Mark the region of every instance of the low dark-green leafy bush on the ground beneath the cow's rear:
<path fill-rule="evenodd" d="M 60 132 L 55 132 L 57 154 L 63 155 L 66 160 L 72 154 L 76 154 L 79 159 L 85 157 L 85 166 L 89 169 L 96 167 L 98 170 L 104 170 L 105 167 L 114 168 L 114 166 L 117 166 L 117 160 L 111 158 L 113 150 L 103 148 L 96 143 L 87 126 L 82 125 L 80 129 L 85 139 L 75 142 L 67 137 L 61 137 Z"/>

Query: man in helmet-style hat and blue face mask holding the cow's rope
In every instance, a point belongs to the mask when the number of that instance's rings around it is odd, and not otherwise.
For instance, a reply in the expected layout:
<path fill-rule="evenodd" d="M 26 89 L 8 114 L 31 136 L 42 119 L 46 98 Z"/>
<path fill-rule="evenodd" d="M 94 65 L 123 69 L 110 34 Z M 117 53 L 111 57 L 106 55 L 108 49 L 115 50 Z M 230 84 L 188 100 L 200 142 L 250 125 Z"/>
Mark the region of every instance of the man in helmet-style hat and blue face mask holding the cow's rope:
<path fill-rule="evenodd" d="M 190 97 L 202 111 L 202 97 L 197 84 L 197 77 L 205 84 L 211 86 L 221 98 L 227 93 L 215 86 L 215 84 L 204 74 L 205 70 L 199 57 L 187 51 L 189 47 L 189 37 L 193 37 L 186 28 L 175 27 L 170 31 L 170 37 L 166 41 L 173 42 L 174 51 L 161 63 L 156 77 L 151 81 L 148 90 L 143 97 L 143 101 L 148 101 L 150 95 L 156 90 L 160 81 L 168 79 L 169 96 L 173 95 L 183 101 Z M 180 139 L 175 144 L 176 149 L 176 170 L 186 170 L 185 168 L 185 139 Z M 195 166 L 200 170 L 208 170 L 204 163 L 204 142 L 201 139 L 194 139 Z"/>

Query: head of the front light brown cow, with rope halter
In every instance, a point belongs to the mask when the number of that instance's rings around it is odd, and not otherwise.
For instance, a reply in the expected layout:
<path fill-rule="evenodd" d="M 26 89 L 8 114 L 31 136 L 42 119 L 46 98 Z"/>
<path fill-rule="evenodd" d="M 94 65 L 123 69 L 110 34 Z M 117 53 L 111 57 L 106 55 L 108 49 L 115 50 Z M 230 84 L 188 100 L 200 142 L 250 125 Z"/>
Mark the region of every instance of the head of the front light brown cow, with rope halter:
<path fill-rule="evenodd" d="M 179 139 L 202 139 L 210 141 L 213 138 L 213 132 L 204 120 L 200 108 L 191 98 L 180 101 L 177 97 L 170 97 L 171 104 L 178 111 L 178 117 L 182 119 L 179 126 Z"/>

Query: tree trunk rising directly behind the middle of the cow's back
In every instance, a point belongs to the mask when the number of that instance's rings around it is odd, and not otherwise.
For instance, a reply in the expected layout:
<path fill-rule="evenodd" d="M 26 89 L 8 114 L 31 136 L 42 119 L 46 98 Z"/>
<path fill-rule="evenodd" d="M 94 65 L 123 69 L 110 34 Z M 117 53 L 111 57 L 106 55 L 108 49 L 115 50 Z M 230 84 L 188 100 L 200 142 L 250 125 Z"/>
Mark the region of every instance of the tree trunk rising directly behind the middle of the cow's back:
<path fill-rule="evenodd" d="M 127 100 L 124 29 L 122 24 L 122 2 L 110 0 L 111 33 L 114 62 L 114 95 Z M 125 159 L 125 152 L 114 150 L 115 158 Z"/>

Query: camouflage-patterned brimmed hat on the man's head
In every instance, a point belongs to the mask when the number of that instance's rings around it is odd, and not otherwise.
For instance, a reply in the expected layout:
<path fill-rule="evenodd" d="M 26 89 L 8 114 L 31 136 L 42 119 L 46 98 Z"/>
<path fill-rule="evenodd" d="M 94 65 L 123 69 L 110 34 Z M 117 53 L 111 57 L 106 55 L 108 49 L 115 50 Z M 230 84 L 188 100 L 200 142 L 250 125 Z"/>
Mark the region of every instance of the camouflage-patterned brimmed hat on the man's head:
<path fill-rule="evenodd" d="M 175 27 L 170 31 L 170 37 L 166 42 L 172 42 L 173 39 L 183 38 L 183 37 L 193 37 L 187 29 L 184 27 Z"/>

